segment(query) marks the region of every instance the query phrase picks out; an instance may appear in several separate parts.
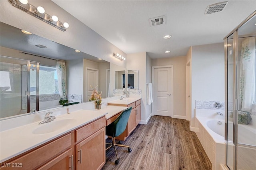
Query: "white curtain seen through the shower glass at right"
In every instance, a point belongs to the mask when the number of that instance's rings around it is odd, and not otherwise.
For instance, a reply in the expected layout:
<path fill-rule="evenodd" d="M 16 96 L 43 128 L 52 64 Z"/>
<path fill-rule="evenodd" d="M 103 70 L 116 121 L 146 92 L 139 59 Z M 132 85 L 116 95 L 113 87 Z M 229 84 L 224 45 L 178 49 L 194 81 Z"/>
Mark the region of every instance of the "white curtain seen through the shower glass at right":
<path fill-rule="evenodd" d="M 240 58 L 240 108 L 250 112 L 255 97 L 255 39 L 242 42 Z"/>

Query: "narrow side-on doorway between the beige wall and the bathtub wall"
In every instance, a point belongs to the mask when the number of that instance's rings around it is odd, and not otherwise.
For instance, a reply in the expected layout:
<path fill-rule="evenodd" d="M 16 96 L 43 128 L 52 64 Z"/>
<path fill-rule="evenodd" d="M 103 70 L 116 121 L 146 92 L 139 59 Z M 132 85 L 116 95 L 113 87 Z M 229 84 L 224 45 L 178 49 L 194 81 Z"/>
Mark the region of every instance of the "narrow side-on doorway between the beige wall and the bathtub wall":
<path fill-rule="evenodd" d="M 186 120 L 189 122 L 191 122 L 191 98 L 191 59 L 189 59 L 186 63 Z"/>

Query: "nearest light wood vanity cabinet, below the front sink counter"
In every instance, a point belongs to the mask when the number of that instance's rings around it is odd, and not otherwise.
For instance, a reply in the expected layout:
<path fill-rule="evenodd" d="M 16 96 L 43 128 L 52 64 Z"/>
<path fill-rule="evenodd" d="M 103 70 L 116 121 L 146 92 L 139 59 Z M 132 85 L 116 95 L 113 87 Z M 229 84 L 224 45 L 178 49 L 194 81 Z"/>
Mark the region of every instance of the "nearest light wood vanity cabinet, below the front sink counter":
<path fill-rule="evenodd" d="M 0 169 L 100 170 L 106 162 L 105 126 L 106 118 L 102 116 L 43 146 L 1 163 Z"/>

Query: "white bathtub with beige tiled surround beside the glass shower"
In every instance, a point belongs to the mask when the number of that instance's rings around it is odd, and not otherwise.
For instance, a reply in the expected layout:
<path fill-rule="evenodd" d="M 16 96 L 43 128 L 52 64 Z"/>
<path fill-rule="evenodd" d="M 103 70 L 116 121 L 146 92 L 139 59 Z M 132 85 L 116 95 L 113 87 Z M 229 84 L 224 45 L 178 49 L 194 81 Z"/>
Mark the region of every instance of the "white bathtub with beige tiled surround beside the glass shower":
<path fill-rule="evenodd" d="M 196 132 L 204 150 L 206 151 L 210 161 L 212 162 L 212 170 L 221 169 L 220 164 L 226 161 L 226 142 L 224 140 L 224 111 L 223 114 L 216 114 L 216 110 L 196 109 L 196 124 L 199 132 Z M 256 116 L 253 116 L 256 120 Z M 232 126 L 231 118 L 228 125 Z M 220 121 L 222 124 L 218 124 Z M 230 136 L 232 138 L 232 136 Z M 252 122 L 250 125 L 238 125 L 238 143 L 255 145 L 256 124 Z M 232 146 L 232 144 L 230 143 Z M 232 147 L 229 147 L 232 148 Z M 232 162 L 233 154 L 230 151 L 228 155 L 229 162 Z M 256 168 L 256 149 L 238 146 L 238 169 L 239 170 L 255 170 Z"/>

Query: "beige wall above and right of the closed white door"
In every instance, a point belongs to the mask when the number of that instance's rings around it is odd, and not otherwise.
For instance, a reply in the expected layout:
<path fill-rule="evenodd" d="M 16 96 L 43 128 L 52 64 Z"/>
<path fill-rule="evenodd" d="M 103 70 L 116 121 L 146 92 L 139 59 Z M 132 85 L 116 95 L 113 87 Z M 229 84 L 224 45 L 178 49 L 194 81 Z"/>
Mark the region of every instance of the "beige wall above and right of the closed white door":
<path fill-rule="evenodd" d="M 152 59 L 152 66 L 174 66 L 174 117 L 186 117 L 186 56 Z"/>

